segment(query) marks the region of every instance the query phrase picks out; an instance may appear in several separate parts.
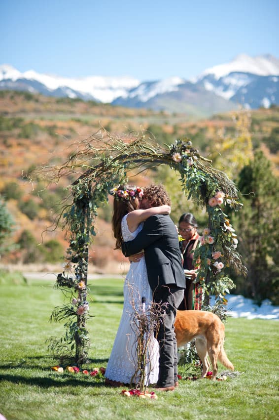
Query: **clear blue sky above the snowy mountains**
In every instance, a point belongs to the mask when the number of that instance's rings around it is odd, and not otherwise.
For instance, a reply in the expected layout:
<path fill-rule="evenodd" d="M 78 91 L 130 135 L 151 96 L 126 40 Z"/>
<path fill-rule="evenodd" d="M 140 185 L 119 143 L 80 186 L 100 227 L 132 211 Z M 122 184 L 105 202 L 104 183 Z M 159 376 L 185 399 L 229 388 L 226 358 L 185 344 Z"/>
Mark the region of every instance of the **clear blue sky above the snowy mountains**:
<path fill-rule="evenodd" d="M 67 77 L 190 78 L 279 57 L 277 0 L 0 0 L 0 64 Z"/>

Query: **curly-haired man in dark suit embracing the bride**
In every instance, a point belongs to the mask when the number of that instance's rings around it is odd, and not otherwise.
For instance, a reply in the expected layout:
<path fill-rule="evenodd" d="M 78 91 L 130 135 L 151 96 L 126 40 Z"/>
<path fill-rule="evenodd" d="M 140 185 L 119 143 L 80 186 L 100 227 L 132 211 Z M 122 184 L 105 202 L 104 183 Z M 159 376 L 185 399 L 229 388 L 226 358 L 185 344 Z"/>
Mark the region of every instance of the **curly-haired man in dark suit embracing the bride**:
<path fill-rule="evenodd" d="M 144 189 L 141 209 L 170 205 L 163 185 Z M 185 276 L 181 264 L 178 235 L 169 215 L 154 215 L 145 220 L 142 230 L 133 241 L 124 242 L 122 252 L 126 256 L 144 250 L 147 276 L 153 292 L 153 300 L 165 310 L 160 322 L 159 342 L 159 391 L 173 391 L 178 385 L 177 347 L 174 334 L 176 309 L 184 296 Z"/>

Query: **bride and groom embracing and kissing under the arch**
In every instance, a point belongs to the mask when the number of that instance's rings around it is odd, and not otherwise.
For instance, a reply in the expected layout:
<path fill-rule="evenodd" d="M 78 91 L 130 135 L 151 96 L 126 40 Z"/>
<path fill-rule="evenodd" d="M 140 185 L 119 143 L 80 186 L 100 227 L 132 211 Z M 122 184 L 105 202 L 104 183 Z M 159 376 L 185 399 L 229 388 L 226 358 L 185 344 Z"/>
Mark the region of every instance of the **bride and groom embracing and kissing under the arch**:
<path fill-rule="evenodd" d="M 174 321 L 184 296 L 185 277 L 177 230 L 170 218 L 170 198 L 162 185 L 155 184 L 144 190 L 120 185 L 111 194 L 116 249 L 122 249 L 131 265 L 105 383 L 120 386 L 130 383 L 135 374 L 137 343 L 132 339 L 131 320 L 135 305 L 140 307 L 141 298 L 145 297 L 146 307 L 153 301 L 164 309 L 158 334 L 149 343 L 146 385 L 156 384 L 157 391 L 172 391 L 178 386 Z"/>

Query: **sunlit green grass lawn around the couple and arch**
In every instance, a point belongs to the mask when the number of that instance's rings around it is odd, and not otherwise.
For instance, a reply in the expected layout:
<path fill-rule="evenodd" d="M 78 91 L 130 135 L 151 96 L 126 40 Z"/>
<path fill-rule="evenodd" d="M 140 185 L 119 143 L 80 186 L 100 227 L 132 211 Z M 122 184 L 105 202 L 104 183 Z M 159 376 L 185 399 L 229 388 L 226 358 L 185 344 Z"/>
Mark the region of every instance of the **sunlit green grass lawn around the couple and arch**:
<path fill-rule="evenodd" d="M 45 340 L 63 333 L 63 325 L 48 322 L 53 307 L 63 303 L 53 283 L 0 285 L 0 413 L 7 420 L 278 418 L 278 321 L 227 322 L 225 349 L 242 372 L 237 378 L 180 380 L 178 390 L 158 393 L 157 400 L 128 399 L 104 379 L 50 370 L 58 360 L 47 353 Z M 122 280 L 90 283 L 88 369 L 106 366 L 123 303 Z"/>

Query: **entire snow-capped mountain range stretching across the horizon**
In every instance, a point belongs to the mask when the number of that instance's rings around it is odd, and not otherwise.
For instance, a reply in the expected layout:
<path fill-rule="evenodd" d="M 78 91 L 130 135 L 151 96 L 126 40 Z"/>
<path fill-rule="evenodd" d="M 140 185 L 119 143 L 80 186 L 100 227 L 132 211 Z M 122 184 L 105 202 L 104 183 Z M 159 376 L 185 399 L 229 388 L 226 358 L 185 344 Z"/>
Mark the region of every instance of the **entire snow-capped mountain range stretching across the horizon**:
<path fill-rule="evenodd" d="M 248 109 L 279 105 L 279 59 L 272 55 L 241 54 L 191 80 L 173 77 L 143 82 L 124 76 L 63 78 L 33 70 L 21 73 L 3 64 L 0 89 L 209 116 L 239 105 Z"/>

